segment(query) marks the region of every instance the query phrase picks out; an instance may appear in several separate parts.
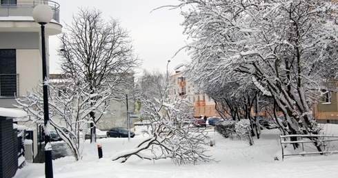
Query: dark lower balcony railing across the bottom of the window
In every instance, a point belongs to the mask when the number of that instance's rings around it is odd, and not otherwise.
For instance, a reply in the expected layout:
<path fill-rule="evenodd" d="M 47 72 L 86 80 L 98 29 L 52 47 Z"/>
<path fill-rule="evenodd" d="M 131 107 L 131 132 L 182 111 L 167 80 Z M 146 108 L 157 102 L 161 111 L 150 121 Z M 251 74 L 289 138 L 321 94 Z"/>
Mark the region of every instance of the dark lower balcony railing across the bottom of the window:
<path fill-rule="evenodd" d="M 19 75 L 0 74 L 0 97 L 19 96 Z"/>

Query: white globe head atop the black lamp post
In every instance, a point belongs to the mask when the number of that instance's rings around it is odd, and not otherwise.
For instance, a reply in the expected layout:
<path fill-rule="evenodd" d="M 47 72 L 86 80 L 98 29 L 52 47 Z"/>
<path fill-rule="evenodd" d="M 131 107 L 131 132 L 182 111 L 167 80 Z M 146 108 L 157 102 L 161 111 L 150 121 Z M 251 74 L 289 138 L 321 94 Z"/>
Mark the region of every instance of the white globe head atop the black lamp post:
<path fill-rule="evenodd" d="M 39 4 L 33 9 L 32 17 L 34 21 L 43 25 L 49 23 L 52 20 L 53 12 L 46 4 Z"/>

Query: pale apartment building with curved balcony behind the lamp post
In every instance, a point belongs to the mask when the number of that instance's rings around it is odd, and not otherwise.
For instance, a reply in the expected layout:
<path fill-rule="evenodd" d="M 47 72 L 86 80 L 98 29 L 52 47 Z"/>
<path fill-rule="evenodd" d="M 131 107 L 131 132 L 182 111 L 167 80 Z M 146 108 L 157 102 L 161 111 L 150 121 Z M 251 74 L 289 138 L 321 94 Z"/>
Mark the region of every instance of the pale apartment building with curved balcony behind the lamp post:
<path fill-rule="evenodd" d="M 46 63 L 49 68 L 48 37 L 61 33 L 59 3 L 55 1 L 0 1 L 0 108 L 14 108 L 15 97 L 26 95 L 43 79 L 41 25 L 34 21 L 32 11 L 39 4 L 48 5 L 52 21 L 45 25 Z M 47 69 L 47 73 L 49 70 Z M 41 149 L 38 132 L 41 126 L 29 126 L 34 140 L 33 157 Z"/>

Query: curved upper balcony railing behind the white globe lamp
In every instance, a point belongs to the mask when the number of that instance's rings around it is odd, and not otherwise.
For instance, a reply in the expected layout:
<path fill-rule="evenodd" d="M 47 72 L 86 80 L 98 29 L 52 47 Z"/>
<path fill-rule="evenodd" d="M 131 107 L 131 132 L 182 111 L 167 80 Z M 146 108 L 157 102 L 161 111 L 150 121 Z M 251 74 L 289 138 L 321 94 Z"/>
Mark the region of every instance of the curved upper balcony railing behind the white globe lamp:
<path fill-rule="evenodd" d="M 54 1 L 24 1 L 13 3 L 10 0 L 1 0 L 0 4 L 0 17 L 10 16 L 24 16 L 32 17 L 32 12 L 35 6 L 39 4 L 48 5 L 53 12 L 53 18 L 55 21 L 60 22 L 60 5 Z"/>

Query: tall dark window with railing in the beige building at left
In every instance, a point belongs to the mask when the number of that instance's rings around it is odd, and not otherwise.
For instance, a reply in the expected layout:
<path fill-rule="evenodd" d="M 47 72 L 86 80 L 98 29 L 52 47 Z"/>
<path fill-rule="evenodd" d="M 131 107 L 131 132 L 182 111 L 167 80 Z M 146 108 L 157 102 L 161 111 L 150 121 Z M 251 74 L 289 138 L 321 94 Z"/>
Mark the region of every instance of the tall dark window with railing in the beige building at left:
<path fill-rule="evenodd" d="M 17 94 L 16 50 L 0 50 L 0 96 L 15 97 Z"/>

